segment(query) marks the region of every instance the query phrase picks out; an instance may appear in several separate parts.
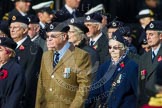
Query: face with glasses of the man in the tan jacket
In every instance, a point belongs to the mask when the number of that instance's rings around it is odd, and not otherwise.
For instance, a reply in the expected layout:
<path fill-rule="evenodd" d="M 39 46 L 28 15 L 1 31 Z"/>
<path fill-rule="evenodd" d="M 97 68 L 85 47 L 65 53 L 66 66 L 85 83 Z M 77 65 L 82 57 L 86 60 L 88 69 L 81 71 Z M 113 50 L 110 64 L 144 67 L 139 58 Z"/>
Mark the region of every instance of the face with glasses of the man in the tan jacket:
<path fill-rule="evenodd" d="M 47 32 L 47 48 L 60 50 L 67 42 L 67 34 L 62 32 Z"/>

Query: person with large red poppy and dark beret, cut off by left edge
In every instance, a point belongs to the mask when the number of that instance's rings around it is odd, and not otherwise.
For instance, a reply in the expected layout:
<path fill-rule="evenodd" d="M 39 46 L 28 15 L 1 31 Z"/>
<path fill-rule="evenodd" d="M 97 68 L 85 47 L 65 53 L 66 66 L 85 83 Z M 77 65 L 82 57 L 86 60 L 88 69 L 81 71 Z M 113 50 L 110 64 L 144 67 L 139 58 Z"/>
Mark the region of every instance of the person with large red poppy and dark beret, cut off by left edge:
<path fill-rule="evenodd" d="M 17 44 L 0 37 L 0 108 L 21 108 L 25 88 L 25 72 L 15 61 Z"/>

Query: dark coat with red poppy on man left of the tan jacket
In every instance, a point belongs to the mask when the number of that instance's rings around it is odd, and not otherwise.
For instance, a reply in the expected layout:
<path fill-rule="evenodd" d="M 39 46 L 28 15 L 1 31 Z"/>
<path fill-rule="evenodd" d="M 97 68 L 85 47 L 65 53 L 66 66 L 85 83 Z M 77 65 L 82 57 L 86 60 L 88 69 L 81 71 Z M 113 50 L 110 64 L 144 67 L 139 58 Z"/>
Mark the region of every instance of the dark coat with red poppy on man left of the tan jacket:
<path fill-rule="evenodd" d="M 34 108 L 38 74 L 40 71 L 42 49 L 27 39 L 16 49 L 18 62 L 25 69 L 26 88 L 23 104 L 25 108 Z"/>

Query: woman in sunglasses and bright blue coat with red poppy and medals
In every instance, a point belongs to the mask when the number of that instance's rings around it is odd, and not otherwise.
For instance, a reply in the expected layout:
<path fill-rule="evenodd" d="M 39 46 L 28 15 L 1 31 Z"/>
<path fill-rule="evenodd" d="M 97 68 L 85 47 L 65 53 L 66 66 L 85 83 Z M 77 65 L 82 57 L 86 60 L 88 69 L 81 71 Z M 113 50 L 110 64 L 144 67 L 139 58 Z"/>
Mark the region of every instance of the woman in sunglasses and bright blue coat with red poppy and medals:
<path fill-rule="evenodd" d="M 121 35 L 113 34 L 109 52 L 111 59 L 99 67 L 86 107 L 136 108 L 138 65 L 127 57 Z"/>

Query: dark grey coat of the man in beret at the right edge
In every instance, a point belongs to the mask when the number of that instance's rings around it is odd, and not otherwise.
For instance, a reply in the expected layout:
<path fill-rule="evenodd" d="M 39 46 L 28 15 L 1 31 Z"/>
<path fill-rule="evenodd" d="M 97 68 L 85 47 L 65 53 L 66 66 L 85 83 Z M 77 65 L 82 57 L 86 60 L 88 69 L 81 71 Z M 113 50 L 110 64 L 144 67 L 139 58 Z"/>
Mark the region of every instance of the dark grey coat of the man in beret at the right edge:
<path fill-rule="evenodd" d="M 155 89 L 155 73 L 159 62 L 161 61 L 159 57 L 162 57 L 162 46 L 160 47 L 157 56 L 152 62 L 152 51 L 144 53 L 140 58 L 140 68 L 139 68 L 139 103 L 147 104 L 150 97 L 156 94 Z M 141 71 L 146 70 L 146 75 L 141 75 Z"/>

